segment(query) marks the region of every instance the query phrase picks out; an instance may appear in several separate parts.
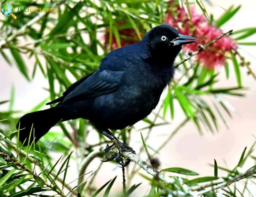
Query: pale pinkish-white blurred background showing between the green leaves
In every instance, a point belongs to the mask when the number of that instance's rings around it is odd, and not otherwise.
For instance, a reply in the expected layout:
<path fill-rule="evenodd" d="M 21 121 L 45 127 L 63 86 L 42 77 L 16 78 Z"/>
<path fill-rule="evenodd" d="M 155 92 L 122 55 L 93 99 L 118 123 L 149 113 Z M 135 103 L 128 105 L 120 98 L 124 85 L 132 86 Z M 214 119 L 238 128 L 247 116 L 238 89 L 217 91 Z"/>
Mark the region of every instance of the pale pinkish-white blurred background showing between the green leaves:
<path fill-rule="evenodd" d="M 213 7 L 208 7 L 208 11 L 214 13 L 217 18 L 221 13 L 223 13 L 224 7 L 227 9 L 231 4 L 239 5 L 242 4 L 240 11 L 225 25 L 223 25 L 223 31 L 229 29 L 241 29 L 246 27 L 255 27 L 255 0 L 212 0 L 215 4 Z M 219 7 L 219 6 L 221 7 Z M 0 17 L 3 17 L 2 15 Z M 251 36 L 249 41 L 255 42 L 256 35 Z M 243 46 L 240 50 L 241 54 L 245 56 L 246 60 L 251 62 L 251 67 L 256 72 L 256 47 L 255 46 Z M 7 100 L 10 98 L 11 86 L 15 86 L 16 100 L 14 109 L 27 111 L 33 106 L 37 105 L 39 101 L 48 96 L 42 87 L 48 87 L 48 82 L 42 77 L 41 74 L 37 73 L 33 82 L 27 82 L 26 79 L 20 74 L 15 66 L 10 67 L 0 57 L 0 101 Z M 34 62 L 31 60 L 26 60 L 27 67 L 33 67 Z M 219 86 L 236 86 L 236 76 L 233 71 L 230 71 L 230 79 L 226 80 L 225 71 L 221 69 L 221 76 Z M 188 123 L 184 126 L 174 138 L 165 146 L 165 148 L 160 152 L 158 158 L 160 159 L 161 168 L 167 167 L 183 167 L 199 172 L 201 176 L 213 176 L 213 168 L 208 165 L 208 163 L 213 163 L 214 158 L 217 160 L 218 165 L 227 166 L 233 168 L 240 155 L 245 148 L 245 146 L 250 147 L 255 141 L 253 135 L 256 134 L 255 130 L 255 117 L 256 117 L 256 81 L 252 76 L 246 74 L 246 68 L 241 69 L 242 74 L 242 84 L 244 87 L 248 87 L 249 90 L 245 91 L 246 97 L 230 97 L 227 100 L 234 107 L 235 111 L 232 113 L 233 118 L 229 118 L 225 115 L 226 120 L 229 124 L 229 129 L 221 123 L 221 119 L 218 118 L 219 132 L 212 135 L 210 132 L 204 131 L 204 135 L 200 136 L 196 127 L 193 123 Z M 210 101 L 210 100 L 209 100 Z M 6 106 L 0 106 L 0 110 L 6 110 Z M 151 138 L 148 141 L 148 145 L 157 148 L 162 141 L 173 131 L 173 129 L 178 125 L 178 121 L 182 121 L 182 117 L 177 118 L 182 115 L 182 112 L 177 109 L 175 111 L 175 122 L 168 126 L 157 127 L 152 131 Z M 140 128 L 142 123 L 138 123 L 136 127 Z M 143 135 L 146 135 L 146 130 L 143 131 Z M 93 139 L 97 134 L 91 134 L 90 138 Z M 132 134 L 132 139 L 136 141 L 132 143 L 133 149 L 138 151 L 138 145 L 140 142 L 139 132 Z M 254 153 L 256 155 L 256 153 Z M 143 159 L 146 159 L 146 155 L 142 155 Z M 225 162 L 224 162 L 225 159 Z M 99 159 L 95 159 L 88 168 L 88 172 L 95 170 L 95 166 L 98 166 Z M 77 165 L 76 163 L 71 163 L 73 167 L 69 171 L 70 180 L 74 180 L 77 176 Z M 245 165 L 244 170 L 248 169 L 254 165 L 251 160 Z M 107 180 L 110 180 L 116 174 L 118 175 L 116 183 L 112 189 L 116 191 L 121 191 L 122 188 L 122 176 L 121 168 L 115 169 L 112 163 L 104 163 L 104 168 L 99 171 L 96 179 L 96 186 L 99 188 Z M 130 164 L 129 168 L 133 168 L 133 164 Z M 219 171 L 221 174 L 221 171 Z M 223 174 L 224 175 L 224 174 Z M 190 177 L 192 178 L 192 177 Z M 148 182 L 139 176 L 132 181 L 132 184 L 138 183 L 139 181 L 143 184 L 139 187 L 139 190 L 133 196 L 142 196 L 145 194 L 149 187 Z M 255 188 L 255 185 L 252 185 Z M 255 192 L 256 193 L 256 192 Z"/>

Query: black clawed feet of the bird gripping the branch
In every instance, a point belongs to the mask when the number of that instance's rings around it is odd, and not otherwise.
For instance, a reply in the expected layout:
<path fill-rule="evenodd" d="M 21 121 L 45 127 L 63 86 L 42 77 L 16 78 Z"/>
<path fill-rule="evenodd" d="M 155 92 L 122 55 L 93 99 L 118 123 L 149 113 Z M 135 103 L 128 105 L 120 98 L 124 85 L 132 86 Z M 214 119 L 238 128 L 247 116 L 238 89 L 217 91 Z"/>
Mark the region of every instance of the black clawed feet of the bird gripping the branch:
<path fill-rule="evenodd" d="M 114 151 L 111 151 L 116 146 L 118 146 L 117 147 L 117 149 L 119 151 L 118 153 L 114 153 Z M 106 161 L 110 161 L 112 159 L 115 159 L 116 162 L 118 164 L 120 164 L 122 167 L 127 166 L 131 162 L 131 160 L 130 159 L 124 159 L 123 157 L 121 157 L 121 155 L 123 155 L 123 152 L 131 152 L 133 154 L 136 154 L 135 151 L 131 147 L 126 146 L 123 143 L 117 143 L 117 145 L 114 143 L 113 145 L 108 146 L 105 149 L 105 155 L 106 155 L 106 158 L 107 158 Z"/>

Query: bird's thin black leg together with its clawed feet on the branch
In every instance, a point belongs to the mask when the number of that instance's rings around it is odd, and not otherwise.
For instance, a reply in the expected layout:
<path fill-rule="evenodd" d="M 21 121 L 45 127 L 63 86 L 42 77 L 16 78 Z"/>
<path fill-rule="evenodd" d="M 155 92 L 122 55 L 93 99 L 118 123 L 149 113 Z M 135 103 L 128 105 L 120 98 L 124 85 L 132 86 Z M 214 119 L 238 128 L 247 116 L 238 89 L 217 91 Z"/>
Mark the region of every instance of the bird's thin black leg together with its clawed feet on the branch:
<path fill-rule="evenodd" d="M 117 163 L 119 163 L 121 166 L 123 166 L 123 167 L 127 166 L 131 162 L 131 160 L 127 159 L 127 160 L 123 161 L 122 152 L 128 151 L 128 152 L 132 152 L 132 153 L 136 154 L 135 151 L 131 147 L 126 146 L 124 143 L 120 142 L 109 130 L 101 131 L 101 133 L 114 142 L 113 145 L 111 145 L 105 149 L 106 157 L 110 160 L 115 158 Z M 114 146 L 117 147 L 119 153 L 116 155 L 113 155 L 112 157 L 109 157 L 108 153 L 110 150 L 113 149 Z"/>

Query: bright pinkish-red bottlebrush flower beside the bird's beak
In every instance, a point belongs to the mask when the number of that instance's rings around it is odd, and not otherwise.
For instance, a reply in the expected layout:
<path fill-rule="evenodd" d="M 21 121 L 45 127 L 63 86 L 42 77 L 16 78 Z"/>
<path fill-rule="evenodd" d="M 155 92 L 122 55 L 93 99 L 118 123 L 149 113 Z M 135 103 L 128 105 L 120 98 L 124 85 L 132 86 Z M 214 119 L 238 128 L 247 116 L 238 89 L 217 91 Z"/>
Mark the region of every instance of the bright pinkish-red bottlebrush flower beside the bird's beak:
<path fill-rule="evenodd" d="M 181 34 L 193 36 L 198 39 L 198 43 L 185 45 L 183 51 L 197 51 L 198 44 L 207 44 L 218 36 L 222 35 L 221 29 L 211 26 L 207 23 L 204 15 L 197 14 L 195 7 L 190 6 L 191 21 L 185 9 L 176 6 L 177 14 L 166 13 L 167 24 L 177 28 Z M 206 50 L 201 51 L 195 56 L 196 61 L 200 61 L 207 68 L 215 68 L 217 66 L 225 65 L 225 52 L 231 51 L 237 46 L 237 43 L 230 38 L 224 36 L 216 43 L 207 47 Z"/>

